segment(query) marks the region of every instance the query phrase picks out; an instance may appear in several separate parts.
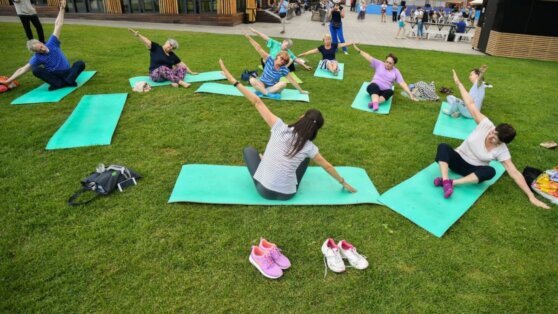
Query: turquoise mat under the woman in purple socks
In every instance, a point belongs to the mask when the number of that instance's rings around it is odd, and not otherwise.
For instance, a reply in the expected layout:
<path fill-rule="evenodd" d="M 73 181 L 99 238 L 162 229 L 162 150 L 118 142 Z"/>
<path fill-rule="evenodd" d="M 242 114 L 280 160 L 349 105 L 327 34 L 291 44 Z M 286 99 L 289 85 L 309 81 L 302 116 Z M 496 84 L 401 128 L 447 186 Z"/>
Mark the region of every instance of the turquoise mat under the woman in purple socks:
<path fill-rule="evenodd" d="M 451 197 L 446 199 L 442 187 L 434 186 L 434 179 L 440 176 L 440 168 L 437 163 L 432 163 L 382 194 L 379 201 L 426 231 L 442 237 L 504 173 L 504 166 L 499 162 L 494 161 L 490 165 L 496 169 L 492 180 L 456 186 Z M 459 175 L 450 172 L 450 177 L 459 178 Z"/>

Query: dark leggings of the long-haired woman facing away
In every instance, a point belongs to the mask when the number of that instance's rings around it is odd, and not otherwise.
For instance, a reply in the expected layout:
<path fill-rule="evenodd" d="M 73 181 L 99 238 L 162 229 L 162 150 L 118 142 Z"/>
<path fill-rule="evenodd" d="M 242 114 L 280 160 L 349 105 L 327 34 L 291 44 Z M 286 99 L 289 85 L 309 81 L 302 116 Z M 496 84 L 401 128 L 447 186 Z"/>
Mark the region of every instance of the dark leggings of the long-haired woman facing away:
<path fill-rule="evenodd" d="M 250 176 L 254 178 L 254 174 L 256 174 L 256 170 L 258 170 L 258 166 L 260 165 L 261 158 L 258 151 L 253 147 L 246 147 L 244 148 L 244 162 L 246 163 L 246 167 L 248 167 L 248 171 L 250 172 Z M 300 183 L 304 173 L 306 173 L 306 169 L 308 169 L 308 164 L 310 163 L 310 159 L 306 158 L 303 162 L 300 163 L 298 168 L 296 169 L 296 180 Z M 256 190 L 258 193 L 265 199 L 268 200 L 280 200 L 285 201 L 291 199 L 296 193 L 293 194 L 283 194 L 279 192 L 272 191 L 265 186 L 263 186 L 258 180 L 254 179 L 254 185 L 256 186 Z M 298 183 L 296 185 L 296 189 L 298 190 Z"/>

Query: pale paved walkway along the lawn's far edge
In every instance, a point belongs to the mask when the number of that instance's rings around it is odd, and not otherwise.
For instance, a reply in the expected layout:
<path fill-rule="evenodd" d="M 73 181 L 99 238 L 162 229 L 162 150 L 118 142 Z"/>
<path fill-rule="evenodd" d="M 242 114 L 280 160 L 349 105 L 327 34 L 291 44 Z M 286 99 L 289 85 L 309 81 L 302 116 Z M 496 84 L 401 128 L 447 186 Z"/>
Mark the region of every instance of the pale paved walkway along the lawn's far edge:
<path fill-rule="evenodd" d="M 167 24 L 167 23 L 145 23 L 128 21 L 106 21 L 106 20 L 87 20 L 72 19 L 66 16 L 64 23 L 77 25 L 94 25 L 110 27 L 133 27 L 138 29 L 161 29 L 189 32 L 206 32 L 216 34 L 242 34 L 249 31 L 249 27 L 254 27 L 271 37 L 290 37 L 293 39 L 321 40 L 324 34 L 329 33 L 329 28 L 322 26 L 320 22 L 310 21 L 310 12 L 305 12 L 301 16 L 296 16 L 287 24 L 285 35 L 279 34 L 281 25 L 275 23 L 255 23 L 241 24 L 237 26 L 213 26 L 213 25 L 190 25 L 190 24 Z M 380 16 L 374 14 L 366 15 L 364 21 L 357 20 L 355 12 L 347 12 L 343 19 L 343 32 L 345 40 L 356 41 L 363 44 L 404 47 L 413 49 L 436 50 L 445 52 L 455 52 L 464 54 L 482 55 L 481 52 L 471 48 L 468 42 L 447 42 L 441 40 L 416 40 L 416 39 L 395 39 L 397 25 L 391 22 L 388 16 L 387 23 L 380 23 Z M 53 18 L 41 18 L 43 23 L 54 23 Z M 0 22 L 20 23 L 16 16 L 0 16 Z M 407 26 L 408 28 L 408 26 Z M 22 30 L 23 32 L 23 30 Z"/>

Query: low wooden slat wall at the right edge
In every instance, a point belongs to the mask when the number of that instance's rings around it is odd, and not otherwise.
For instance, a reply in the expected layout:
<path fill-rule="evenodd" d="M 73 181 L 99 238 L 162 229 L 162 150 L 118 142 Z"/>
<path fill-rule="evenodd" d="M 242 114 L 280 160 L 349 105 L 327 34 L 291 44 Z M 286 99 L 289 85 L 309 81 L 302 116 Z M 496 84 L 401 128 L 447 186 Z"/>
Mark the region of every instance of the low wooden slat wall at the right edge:
<path fill-rule="evenodd" d="M 558 61 L 558 37 L 490 31 L 486 53 L 501 57 Z"/>

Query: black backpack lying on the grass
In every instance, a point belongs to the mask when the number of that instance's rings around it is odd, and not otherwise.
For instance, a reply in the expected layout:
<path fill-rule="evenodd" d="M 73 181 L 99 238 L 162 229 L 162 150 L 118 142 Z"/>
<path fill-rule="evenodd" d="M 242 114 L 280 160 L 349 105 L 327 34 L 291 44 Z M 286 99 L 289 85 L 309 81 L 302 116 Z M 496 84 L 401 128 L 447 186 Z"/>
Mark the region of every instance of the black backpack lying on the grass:
<path fill-rule="evenodd" d="M 122 192 L 125 188 L 136 185 L 136 180 L 140 178 L 141 175 L 130 168 L 119 165 L 105 168 L 105 165 L 100 164 L 95 172 L 81 180 L 82 188 L 70 197 L 68 204 L 71 206 L 87 204 L 100 195 L 109 195 L 115 189 Z M 86 201 L 76 201 L 81 194 L 88 191 L 95 192 L 95 195 Z"/>

